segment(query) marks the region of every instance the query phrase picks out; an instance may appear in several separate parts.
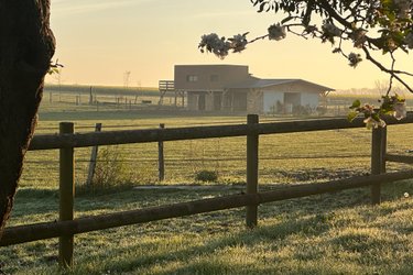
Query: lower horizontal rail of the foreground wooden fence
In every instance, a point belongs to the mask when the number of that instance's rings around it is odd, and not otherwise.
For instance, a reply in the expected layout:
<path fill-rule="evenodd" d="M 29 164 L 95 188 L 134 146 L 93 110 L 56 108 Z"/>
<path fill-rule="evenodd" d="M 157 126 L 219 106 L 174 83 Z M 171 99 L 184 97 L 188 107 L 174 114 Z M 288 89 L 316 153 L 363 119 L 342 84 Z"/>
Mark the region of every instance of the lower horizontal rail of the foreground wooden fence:
<path fill-rule="evenodd" d="M 161 207 L 144 208 L 116 213 L 85 217 L 70 221 L 43 222 L 30 226 L 6 228 L 0 246 L 32 242 L 130 226 L 170 218 L 185 217 L 250 205 L 307 197 L 317 194 L 360 188 L 377 183 L 392 183 L 413 177 L 413 170 L 382 175 L 352 177 L 320 184 L 303 184 L 257 194 L 231 195 L 220 198 L 194 200 Z"/>

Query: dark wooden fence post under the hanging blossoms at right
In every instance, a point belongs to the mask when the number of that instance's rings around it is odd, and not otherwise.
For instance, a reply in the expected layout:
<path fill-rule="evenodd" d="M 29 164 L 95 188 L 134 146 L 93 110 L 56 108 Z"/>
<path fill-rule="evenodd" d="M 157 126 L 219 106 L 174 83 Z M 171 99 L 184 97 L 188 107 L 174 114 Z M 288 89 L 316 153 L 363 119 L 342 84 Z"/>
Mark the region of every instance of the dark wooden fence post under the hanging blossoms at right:
<path fill-rule="evenodd" d="M 385 169 L 385 131 L 387 128 L 376 128 L 371 135 L 371 175 L 379 175 Z M 381 202 L 381 183 L 371 185 L 371 202 Z"/>

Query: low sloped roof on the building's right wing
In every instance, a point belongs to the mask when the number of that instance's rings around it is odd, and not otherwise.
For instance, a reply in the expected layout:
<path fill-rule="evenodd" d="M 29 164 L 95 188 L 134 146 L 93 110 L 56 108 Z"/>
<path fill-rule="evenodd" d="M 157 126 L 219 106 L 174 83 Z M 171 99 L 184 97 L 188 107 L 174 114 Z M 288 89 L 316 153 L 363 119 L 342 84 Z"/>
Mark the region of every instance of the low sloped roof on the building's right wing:
<path fill-rule="evenodd" d="M 311 85 L 317 89 L 320 89 L 323 91 L 330 91 L 335 90 L 333 88 L 322 86 L 318 84 L 309 82 L 300 78 L 285 78 L 285 79 L 261 79 L 257 77 L 252 77 L 244 81 L 239 81 L 235 84 L 227 85 L 226 88 L 228 89 L 257 89 L 257 88 L 267 88 L 271 86 L 278 86 L 283 84 L 293 84 L 293 82 L 304 82 L 306 85 Z"/>

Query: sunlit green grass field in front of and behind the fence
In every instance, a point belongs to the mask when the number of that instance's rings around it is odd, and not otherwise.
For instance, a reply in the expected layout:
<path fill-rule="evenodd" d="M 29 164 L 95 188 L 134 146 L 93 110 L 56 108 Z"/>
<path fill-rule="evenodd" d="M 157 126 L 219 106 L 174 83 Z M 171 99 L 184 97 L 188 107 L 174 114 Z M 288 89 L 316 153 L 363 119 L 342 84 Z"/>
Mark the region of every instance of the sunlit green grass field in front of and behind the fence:
<path fill-rule="evenodd" d="M 261 118 L 274 120 L 274 118 Z M 54 133 L 58 121 L 78 131 L 240 123 L 244 117 L 153 116 L 141 111 L 99 111 L 87 106 L 44 101 L 37 133 Z M 389 127 L 389 151 L 413 147 L 411 125 Z M 110 146 L 128 184 L 80 191 L 76 217 L 160 206 L 242 191 L 246 139 L 165 143 L 166 180 L 198 184 L 197 170 L 216 170 L 228 188 L 142 190 L 157 182 L 156 144 Z M 105 147 L 101 147 L 105 152 Z M 324 182 L 369 170 L 370 132 L 365 129 L 260 138 L 261 189 Z M 76 150 L 76 182 L 81 190 L 90 148 Z M 58 152 L 29 152 L 9 226 L 58 219 Z M 407 166 L 389 164 L 389 170 Z M 0 249 L 7 274 L 411 274 L 413 272 L 413 194 L 410 180 L 387 186 L 384 202 L 369 205 L 369 190 L 313 196 L 260 206 L 259 228 L 247 230 L 243 209 L 123 227 L 75 238 L 75 266 L 58 270 L 57 240 Z"/>

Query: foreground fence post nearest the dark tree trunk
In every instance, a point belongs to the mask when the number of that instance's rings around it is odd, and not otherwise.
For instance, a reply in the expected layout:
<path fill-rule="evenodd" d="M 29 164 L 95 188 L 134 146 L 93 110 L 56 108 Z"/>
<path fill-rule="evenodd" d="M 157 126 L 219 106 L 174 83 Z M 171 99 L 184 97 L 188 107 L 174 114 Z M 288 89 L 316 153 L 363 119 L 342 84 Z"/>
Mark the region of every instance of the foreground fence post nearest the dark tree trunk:
<path fill-rule="evenodd" d="M 74 133 L 72 122 L 61 122 L 59 133 Z M 73 220 L 74 196 L 75 196 L 75 161 L 74 148 L 59 150 L 59 220 Z M 73 265 L 73 241 L 74 235 L 64 234 L 58 239 L 58 262 L 62 266 Z"/>

